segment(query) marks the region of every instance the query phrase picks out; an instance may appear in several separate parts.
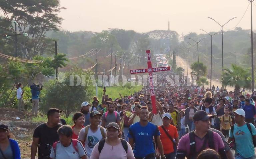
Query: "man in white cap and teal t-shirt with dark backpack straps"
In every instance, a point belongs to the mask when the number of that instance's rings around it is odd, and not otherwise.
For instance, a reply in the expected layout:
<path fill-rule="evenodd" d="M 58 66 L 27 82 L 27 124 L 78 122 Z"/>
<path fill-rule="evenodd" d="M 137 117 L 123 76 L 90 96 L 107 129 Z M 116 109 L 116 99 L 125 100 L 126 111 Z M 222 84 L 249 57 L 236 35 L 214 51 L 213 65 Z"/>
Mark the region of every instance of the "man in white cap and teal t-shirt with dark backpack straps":
<path fill-rule="evenodd" d="M 256 141 L 256 128 L 244 121 L 245 112 L 237 109 L 234 113 L 235 125 L 229 131 L 228 143 L 235 141 L 235 159 L 255 159 L 253 140 Z"/>

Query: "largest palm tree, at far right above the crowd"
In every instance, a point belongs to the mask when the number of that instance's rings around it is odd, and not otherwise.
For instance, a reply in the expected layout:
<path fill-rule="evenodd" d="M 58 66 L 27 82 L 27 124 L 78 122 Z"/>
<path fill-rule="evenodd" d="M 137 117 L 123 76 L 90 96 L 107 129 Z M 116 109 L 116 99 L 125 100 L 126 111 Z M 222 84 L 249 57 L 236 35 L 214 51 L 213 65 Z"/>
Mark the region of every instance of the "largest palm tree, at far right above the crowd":
<path fill-rule="evenodd" d="M 250 69 L 244 69 L 243 67 L 232 64 L 230 69 L 224 69 L 222 84 L 224 86 L 235 86 L 235 95 L 238 95 L 241 87 L 251 88 L 249 77 L 251 77 Z"/>

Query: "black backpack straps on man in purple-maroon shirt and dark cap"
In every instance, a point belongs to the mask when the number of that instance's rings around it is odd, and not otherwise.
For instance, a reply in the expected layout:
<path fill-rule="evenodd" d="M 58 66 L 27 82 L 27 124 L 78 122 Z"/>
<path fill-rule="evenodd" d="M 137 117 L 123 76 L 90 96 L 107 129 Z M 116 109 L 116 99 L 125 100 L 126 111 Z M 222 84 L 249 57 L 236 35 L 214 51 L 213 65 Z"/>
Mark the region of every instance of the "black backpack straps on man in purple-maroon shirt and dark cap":
<path fill-rule="evenodd" d="M 199 152 L 196 152 L 196 140 L 195 140 L 195 133 L 194 131 L 189 132 L 189 140 L 190 140 L 190 154 L 189 159 L 196 159 L 197 156 L 201 151 L 203 151 L 206 148 L 206 142 L 208 141 L 208 145 L 210 149 L 215 149 L 214 141 L 213 141 L 213 131 L 208 130 L 208 133 L 205 136 L 203 146 L 199 150 Z"/>

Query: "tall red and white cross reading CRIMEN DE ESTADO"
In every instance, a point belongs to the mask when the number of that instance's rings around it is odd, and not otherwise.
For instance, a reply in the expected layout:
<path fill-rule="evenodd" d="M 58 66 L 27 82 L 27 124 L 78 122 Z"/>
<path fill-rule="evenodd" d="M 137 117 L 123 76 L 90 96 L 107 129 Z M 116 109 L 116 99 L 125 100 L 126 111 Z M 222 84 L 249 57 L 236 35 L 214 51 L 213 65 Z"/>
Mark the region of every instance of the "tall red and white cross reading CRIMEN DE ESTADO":
<path fill-rule="evenodd" d="M 153 112 L 153 114 L 156 114 L 156 97 L 155 97 L 155 90 L 154 90 L 154 85 L 153 85 L 154 82 L 153 82 L 152 72 L 170 71 L 171 68 L 170 68 L 170 66 L 168 66 L 168 67 L 152 68 L 150 50 L 146 50 L 146 53 L 147 53 L 147 60 L 148 60 L 148 68 L 146 68 L 146 69 L 130 70 L 130 73 L 131 74 L 137 74 L 137 73 L 148 73 L 149 74 L 149 84 L 150 84 L 152 112 Z"/>

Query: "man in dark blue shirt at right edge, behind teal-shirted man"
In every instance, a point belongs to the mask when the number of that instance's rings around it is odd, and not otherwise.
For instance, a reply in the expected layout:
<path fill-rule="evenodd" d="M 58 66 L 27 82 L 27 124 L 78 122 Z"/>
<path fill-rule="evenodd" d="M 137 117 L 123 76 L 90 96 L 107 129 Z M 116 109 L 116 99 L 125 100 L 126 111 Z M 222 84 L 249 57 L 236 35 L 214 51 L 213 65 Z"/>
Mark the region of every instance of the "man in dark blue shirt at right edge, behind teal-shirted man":
<path fill-rule="evenodd" d="M 256 110 L 255 106 L 250 104 L 250 99 L 245 99 L 243 110 L 245 111 L 245 122 L 254 124 L 254 115 L 256 114 Z"/>

